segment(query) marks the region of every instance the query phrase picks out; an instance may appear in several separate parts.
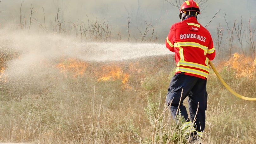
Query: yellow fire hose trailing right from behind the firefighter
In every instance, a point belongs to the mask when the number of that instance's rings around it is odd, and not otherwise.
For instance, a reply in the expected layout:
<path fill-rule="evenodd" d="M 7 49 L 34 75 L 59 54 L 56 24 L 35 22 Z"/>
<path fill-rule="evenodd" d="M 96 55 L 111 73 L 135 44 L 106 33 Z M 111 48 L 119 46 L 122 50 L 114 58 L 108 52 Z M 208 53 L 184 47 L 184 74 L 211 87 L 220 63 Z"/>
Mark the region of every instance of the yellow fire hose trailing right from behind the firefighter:
<path fill-rule="evenodd" d="M 213 66 L 213 64 L 211 63 L 211 61 L 209 61 L 211 68 L 213 69 L 213 71 L 215 72 L 215 74 L 217 75 L 217 77 L 219 78 L 219 80 L 221 81 L 221 83 L 229 90 L 229 92 L 231 92 L 232 94 L 234 94 L 236 97 L 240 98 L 240 99 L 244 99 L 244 100 L 251 100 L 254 101 L 256 100 L 256 98 L 248 98 L 248 97 L 244 97 L 238 93 L 236 93 L 233 89 L 231 89 L 229 87 L 229 85 L 227 85 L 227 83 L 222 79 L 222 77 L 218 74 L 217 70 L 215 69 L 215 67 Z"/>

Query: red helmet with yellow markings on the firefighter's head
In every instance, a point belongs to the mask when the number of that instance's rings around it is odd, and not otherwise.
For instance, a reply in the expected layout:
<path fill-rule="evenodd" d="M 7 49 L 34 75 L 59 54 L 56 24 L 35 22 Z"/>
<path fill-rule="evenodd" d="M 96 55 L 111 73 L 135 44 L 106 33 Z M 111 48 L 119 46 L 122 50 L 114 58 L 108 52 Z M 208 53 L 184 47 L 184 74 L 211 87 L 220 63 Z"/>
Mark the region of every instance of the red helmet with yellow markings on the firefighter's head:
<path fill-rule="evenodd" d="M 187 0 L 181 5 L 180 13 L 183 13 L 185 11 L 195 11 L 198 12 L 198 14 L 200 14 L 199 6 L 193 0 Z"/>

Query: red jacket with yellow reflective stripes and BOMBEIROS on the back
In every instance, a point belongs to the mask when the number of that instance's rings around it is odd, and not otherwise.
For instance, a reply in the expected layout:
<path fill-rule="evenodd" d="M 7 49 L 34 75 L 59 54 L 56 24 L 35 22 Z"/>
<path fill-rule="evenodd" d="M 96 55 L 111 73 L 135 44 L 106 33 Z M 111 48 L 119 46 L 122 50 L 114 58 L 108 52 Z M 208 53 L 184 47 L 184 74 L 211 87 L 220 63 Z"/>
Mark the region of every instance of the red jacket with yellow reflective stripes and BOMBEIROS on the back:
<path fill-rule="evenodd" d="M 195 17 L 173 24 L 165 44 L 175 52 L 175 74 L 182 72 L 207 79 L 209 60 L 214 59 L 215 48 L 209 31 Z"/>

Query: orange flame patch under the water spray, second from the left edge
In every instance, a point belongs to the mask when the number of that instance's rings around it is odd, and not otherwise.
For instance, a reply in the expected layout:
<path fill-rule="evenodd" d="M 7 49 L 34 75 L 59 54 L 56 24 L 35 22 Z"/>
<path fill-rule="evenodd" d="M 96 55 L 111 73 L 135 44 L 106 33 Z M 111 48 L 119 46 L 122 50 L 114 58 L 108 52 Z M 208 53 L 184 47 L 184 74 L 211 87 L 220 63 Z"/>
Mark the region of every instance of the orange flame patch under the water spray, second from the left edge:
<path fill-rule="evenodd" d="M 75 73 L 73 77 L 78 77 L 83 75 L 84 71 L 87 69 L 88 64 L 83 61 L 77 61 L 73 58 L 68 58 L 67 60 L 59 63 L 56 67 L 61 69 L 61 72 L 66 73 L 71 71 Z"/>

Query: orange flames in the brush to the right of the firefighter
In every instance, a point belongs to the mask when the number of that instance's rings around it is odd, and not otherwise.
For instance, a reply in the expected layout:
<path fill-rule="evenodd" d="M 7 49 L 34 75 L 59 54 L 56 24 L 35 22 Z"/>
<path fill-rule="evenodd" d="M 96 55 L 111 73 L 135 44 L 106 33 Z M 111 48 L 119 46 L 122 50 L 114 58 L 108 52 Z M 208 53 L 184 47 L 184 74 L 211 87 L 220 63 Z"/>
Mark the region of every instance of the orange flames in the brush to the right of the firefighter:
<path fill-rule="evenodd" d="M 256 70 L 256 58 L 253 60 L 251 57 L 245 56 L 244 54 L 235 53 L 225 65 L 235 69 L 237 71 L 237 77 L 247 76 L 253 78 L 253 72 Z"/>

